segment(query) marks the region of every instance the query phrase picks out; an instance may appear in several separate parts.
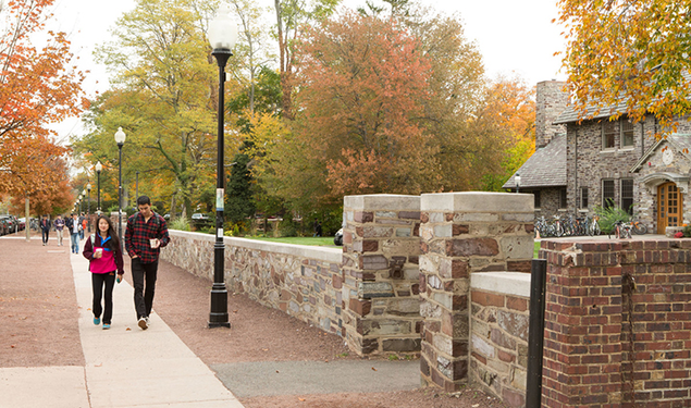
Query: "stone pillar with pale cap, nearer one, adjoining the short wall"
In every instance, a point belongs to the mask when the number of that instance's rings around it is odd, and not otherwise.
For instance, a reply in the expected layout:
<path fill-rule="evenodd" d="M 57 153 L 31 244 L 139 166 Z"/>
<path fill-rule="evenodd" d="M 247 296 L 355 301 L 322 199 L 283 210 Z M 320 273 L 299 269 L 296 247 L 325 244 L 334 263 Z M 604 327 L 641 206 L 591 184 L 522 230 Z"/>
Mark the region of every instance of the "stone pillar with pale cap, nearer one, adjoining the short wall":
<path fill-rule="evenodd" d="M 422 195 L 420 313 L 423 383 L 448 392 L 468 382 L 469 288 L 474 272 L 530 272 L 532 195 Z"/>

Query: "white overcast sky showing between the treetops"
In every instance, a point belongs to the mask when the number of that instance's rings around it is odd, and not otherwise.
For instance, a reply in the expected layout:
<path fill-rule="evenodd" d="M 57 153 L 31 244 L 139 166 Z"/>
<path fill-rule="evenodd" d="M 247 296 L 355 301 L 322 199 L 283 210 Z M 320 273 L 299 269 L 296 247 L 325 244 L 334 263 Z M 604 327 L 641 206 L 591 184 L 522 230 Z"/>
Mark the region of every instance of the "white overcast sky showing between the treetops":
<path fill-rule="evenodd" d="M 266 7 L 273 4 L 272 0 L 257 1 Z M 564 48 L 559 27 L 551 23 L 557 16 L 556 0 L 420 1 L 443 12 L 460 14 L 466 37 L 477 42 L 490 77 L 516 73 L 529 85 L 564 79 L 565 75 L 558 74 L 560 59 L 553 55 Z M 365 0 L 346 0 L 345 4 L 362 5 Z M 69 34 L 73 52 L 79 57 L 79 69 L 90 71 L 85 82 L 89 98 L 96 90 L 108 89 L 108 74 L 103 66 L 94 62 L 94 49 L 109 39 L 109 28 L 134 5 L 134 0 L 55 1 L 51 28 Z M 81 132 L 79 120 L 67 120 L 55 128 L 60 139 L 66 140 L 71 133 Z"/>

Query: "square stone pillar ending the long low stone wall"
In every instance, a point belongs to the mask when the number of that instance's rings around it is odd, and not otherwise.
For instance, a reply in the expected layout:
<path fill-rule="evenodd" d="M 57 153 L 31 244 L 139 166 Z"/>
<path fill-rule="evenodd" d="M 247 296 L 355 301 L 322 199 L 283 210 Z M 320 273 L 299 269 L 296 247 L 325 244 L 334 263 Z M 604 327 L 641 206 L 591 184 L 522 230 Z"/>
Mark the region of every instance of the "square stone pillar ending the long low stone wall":
<path fill-rule="evenodd" d="M 344 198 L 344 337 L 359 355 L 420 350 L 420 197 Z"/>

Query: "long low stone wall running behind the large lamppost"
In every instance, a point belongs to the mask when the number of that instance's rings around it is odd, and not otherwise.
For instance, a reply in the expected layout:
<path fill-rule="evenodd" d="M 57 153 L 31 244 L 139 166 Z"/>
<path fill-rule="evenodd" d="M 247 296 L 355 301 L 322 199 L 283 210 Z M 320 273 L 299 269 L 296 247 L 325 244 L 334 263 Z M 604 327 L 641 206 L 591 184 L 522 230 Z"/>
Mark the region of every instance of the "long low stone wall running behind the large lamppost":
<path fill-rule="evenodd" d="M 161 259 L 213 281 L 215 236 L 169 230 Z M 230 293 L 343 335 L 342 251 L 225 237 L 225 283 Z"/>

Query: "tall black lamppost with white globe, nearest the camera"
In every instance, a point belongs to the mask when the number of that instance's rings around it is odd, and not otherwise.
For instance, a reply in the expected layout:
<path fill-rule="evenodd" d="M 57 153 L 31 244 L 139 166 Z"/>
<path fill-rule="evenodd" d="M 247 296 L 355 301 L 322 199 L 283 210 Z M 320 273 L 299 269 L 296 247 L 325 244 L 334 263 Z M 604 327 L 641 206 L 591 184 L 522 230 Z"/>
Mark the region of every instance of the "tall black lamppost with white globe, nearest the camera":
<path fill-rule="evenodd" d="M 211 52 L 219 65 L 219 136 L 218 158 L 215 174 L 215 244 L 213 245 L 213 286 L 211 287 L 211 312 L 209 313 L 209 327 L 230 327 L 227 318 L 227 289 L 224 282 L 223 257 L 225 246 L 223 244 L 223 198 L 225 196 L 225 171 L 223 165 L 223 112 L 224 112 L 224 83 L 225 64 L 233 55 L 233 47 L 237 40 L 237 27 L 231 20 L 230 8 L 221 2 L 215 17 L 209 22 L 209 42 Z"/>

